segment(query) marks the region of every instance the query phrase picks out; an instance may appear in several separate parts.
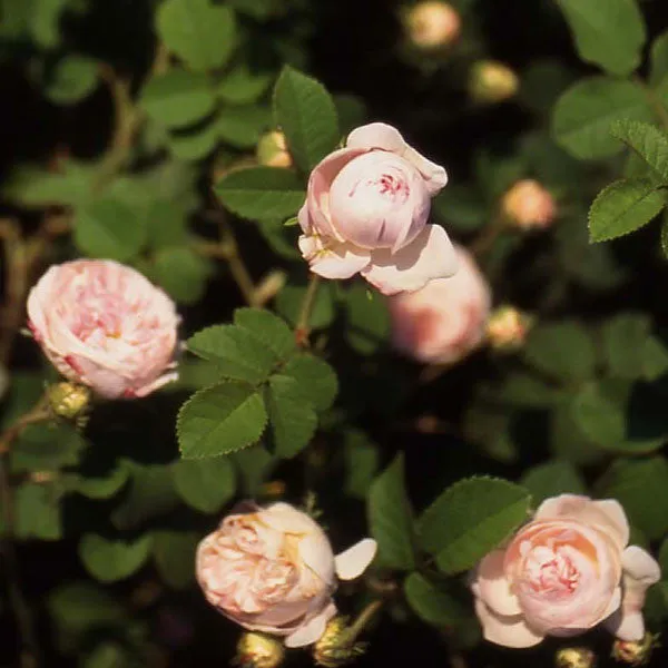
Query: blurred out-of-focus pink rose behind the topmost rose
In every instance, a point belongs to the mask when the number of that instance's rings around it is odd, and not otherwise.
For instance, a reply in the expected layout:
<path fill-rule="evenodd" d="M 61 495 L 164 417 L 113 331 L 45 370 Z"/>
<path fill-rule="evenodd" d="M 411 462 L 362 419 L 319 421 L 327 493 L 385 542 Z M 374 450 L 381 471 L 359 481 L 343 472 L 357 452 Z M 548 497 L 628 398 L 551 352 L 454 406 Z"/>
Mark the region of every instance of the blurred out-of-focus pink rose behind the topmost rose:
<path fill-rule="evenodd" d="M 490 286 L 468 250 L 455 246 L 458 273 L 390 297 L 394 346 L 426 363 L 452 363 L 478 347 L 490 313 Z"/>

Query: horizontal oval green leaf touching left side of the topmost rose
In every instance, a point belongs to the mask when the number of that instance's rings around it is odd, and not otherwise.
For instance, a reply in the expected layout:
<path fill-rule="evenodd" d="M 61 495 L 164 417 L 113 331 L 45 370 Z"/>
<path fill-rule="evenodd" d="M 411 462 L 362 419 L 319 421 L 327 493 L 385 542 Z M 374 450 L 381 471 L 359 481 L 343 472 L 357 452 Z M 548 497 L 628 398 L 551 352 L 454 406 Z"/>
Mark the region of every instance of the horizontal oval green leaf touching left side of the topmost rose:
<path fill-rule="evenodd" d="M 294 216 L 306 199 L 297 175 L 277 167 L 230 171 L 214 191 L 230 212 L 252 220 Z"/>

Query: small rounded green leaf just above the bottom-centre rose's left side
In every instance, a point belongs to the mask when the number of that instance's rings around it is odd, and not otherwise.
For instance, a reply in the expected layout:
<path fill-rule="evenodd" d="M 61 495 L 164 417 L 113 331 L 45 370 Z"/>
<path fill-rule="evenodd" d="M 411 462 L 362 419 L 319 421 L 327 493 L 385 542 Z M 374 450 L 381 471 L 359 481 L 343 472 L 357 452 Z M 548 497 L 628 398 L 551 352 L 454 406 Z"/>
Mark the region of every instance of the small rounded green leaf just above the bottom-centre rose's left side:
<path fill-rule="evenodd" d="M 181 460 L 174 464 L 174 487 L 190 508 L 218 512 L 234 497 L 234 468 L 225 458 Z"/>

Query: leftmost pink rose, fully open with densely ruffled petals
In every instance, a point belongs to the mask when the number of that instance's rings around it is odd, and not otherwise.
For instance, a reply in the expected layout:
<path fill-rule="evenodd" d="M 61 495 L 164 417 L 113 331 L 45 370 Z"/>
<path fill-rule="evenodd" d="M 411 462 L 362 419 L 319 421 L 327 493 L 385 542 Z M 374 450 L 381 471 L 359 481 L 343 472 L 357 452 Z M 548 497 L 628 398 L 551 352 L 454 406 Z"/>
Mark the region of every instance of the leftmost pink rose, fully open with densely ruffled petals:
<path fill-rule="evenodd" d="M 100 396 L 146 396 L 177 377 L 174 302 L 130 267 L 55 265 L 30 291 L 28 318 L 56 369 Z"/>

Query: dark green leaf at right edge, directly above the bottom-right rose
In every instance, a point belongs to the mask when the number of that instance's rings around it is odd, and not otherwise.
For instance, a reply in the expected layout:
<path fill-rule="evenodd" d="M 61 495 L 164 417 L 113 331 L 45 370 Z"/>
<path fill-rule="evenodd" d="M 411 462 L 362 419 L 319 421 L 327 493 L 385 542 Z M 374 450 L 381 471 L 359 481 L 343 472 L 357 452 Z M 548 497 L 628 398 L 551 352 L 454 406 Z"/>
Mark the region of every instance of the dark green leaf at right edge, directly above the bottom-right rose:
<path fill-rule="evenodd" d="M 617 499 L 633 527 L 650 540 L 668 532 L 668 462 L 664 456 L 618 460 L 597 484 L 598 495 Z"/>

